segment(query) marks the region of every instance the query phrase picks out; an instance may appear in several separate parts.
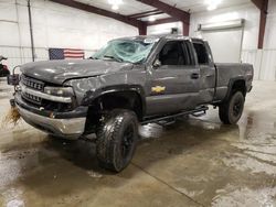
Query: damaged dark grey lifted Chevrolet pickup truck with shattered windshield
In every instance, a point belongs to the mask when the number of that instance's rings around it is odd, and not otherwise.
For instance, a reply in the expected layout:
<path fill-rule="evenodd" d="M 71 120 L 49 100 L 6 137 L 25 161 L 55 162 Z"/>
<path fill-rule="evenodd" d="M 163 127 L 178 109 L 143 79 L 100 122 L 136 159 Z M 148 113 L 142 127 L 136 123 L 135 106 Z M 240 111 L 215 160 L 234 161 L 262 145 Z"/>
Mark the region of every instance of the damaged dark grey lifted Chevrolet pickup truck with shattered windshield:
<path fill-rule="evenodd" d="M 117 39 L 89 59 L 20 69 L 21 117 L 55 137 L 96 133 L 98 163 L 116 172 L 134 155 L 138 123 L 200 115 L 208 105 L 236 123 L 253 80 L 252 65 L 215 64 L 208 42 L 176 35 Z"/>

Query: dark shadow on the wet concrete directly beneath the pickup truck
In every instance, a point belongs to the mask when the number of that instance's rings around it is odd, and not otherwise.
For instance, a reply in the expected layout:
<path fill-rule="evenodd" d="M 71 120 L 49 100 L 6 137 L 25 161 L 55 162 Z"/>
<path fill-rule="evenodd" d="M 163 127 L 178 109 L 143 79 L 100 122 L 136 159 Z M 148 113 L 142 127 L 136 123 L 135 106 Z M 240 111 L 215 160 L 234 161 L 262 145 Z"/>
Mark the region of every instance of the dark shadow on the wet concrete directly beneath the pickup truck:
<path fill-rule="evenodd" d="M 140 128 L 142 137 L 140 137 L 140 141 L 138 142 L 134 162 L 137 160 L 142 162 L 139 156 L 145 157 L 145 153 L 151 154 L 149 159 L 155 159 L 156 162 L 158 162 L 158 159 L 163 159 L 164 156 L 170 159 L 184 151 L 192 151 L 194 146 L 204 144 L 204 142 L 215 139 L 216 135 L 230 131 L 238 131 L 238 127 L 223 126 L 199 119 L 180 120 L 168 127 L 150 123 Z M 46 149 L 55 151 L 62 159 L 85 171 L 94 171 L 103 175 L 115 174 L 98 166 L 94 142 L 85 140 L 67 141 L 52 138 L 44 144 Z M 147 160 L 147 157 L 145 159 Z"/>

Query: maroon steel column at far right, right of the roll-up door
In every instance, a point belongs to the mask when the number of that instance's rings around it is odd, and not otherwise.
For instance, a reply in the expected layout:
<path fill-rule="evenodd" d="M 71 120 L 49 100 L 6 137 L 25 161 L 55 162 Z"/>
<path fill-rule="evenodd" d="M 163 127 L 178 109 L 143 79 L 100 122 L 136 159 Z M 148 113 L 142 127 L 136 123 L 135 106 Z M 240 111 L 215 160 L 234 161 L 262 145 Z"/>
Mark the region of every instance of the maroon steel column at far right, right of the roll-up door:
<path fill-rule="evenodd" d="M 252 2 L 259 9 L 259 28 L 258 28 L 258 48 L 264 47 L 265 26 L 268 9 L 268 0 L 252 0 Z"/>

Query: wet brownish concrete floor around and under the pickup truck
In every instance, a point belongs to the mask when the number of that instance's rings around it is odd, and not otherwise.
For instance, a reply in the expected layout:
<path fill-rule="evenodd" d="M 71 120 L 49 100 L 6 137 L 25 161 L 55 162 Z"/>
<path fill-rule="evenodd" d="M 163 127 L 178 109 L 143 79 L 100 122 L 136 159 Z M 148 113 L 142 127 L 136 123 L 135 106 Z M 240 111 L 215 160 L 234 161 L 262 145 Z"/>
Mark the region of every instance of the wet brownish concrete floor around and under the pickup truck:
<path fill-rule="evenodd" d="M 10 88 L 0 85 L 0 118 Z M 95 146 L 24 122 L 0 128 L 0 206 L 276 206 L 276 83 L 255 81 L 237 126 L 217 110 L 142 129 L 131 164 L 97 166 Z"/>

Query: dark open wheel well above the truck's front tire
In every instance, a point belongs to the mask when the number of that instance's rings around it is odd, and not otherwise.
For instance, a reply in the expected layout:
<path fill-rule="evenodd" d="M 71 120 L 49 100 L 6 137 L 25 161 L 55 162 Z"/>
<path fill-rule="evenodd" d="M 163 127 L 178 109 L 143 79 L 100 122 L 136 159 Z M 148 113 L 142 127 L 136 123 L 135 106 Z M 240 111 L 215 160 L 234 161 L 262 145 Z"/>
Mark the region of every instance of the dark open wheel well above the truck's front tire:
<path fill-rule="evenodd" d="M 89 128 L 98 123 L 98 120 L 100 119 L 104 112 L 118 108 L 132 110 L 136 113 L 138 120 L 142 120 L 144 116 L 142 100 L 138 92 L 135 91 L 109 92 L 106 95 L 102 95 L 91 103 L 87 112 L 85 131 L 92 131 L 93 129 Z"/>

